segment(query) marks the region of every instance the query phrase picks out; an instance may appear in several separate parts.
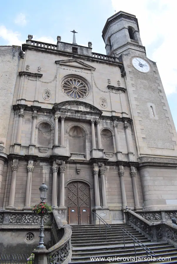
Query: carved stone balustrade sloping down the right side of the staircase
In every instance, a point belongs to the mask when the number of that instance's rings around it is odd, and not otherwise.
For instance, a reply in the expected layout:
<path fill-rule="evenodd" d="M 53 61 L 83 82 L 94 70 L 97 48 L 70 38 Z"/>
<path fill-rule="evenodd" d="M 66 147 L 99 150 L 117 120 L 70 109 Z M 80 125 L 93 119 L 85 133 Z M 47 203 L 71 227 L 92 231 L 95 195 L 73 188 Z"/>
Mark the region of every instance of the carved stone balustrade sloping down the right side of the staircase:
<path fill-rule="evenodd" d="M 166 212 L 166 213 L 163 212 L 163 213 L 166 214 L 166 218 L 169 217 L 169 212 Z M 173 212 L 173 213 L 176 215 L 176 212 Z M 146 237 L 151 239 L 151 241 L 169 242 L 173 246 L 177 247 L 177 225 L 176 224 L 173 224 L 172 222 L 168 222 L 164 220 L 160 222 L 148 221 L 147 219 L 143 218 L 139 213 L 137 214 L 131 210 L 124 211 L 124 214 L 126 217 L 126 223 L 130 224 L 136 230 L 143 233 Z M 156 214 L 156 212 L 154 214 Z M 173 218 L 173 215 L 170 214 L 170 217 Z"/>

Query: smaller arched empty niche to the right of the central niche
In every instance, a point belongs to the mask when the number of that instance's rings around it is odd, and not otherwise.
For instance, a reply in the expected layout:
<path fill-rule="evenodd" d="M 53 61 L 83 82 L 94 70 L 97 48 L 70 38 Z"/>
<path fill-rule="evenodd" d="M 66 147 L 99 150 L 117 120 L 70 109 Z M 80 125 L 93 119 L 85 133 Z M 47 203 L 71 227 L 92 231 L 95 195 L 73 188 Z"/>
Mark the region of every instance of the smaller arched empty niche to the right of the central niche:
<path fill-rule="evenodd" d="M 114 143 L 112 132 L 105 128 L 101 131 L 101 143 L 104 151 L 114 152 Z"/>

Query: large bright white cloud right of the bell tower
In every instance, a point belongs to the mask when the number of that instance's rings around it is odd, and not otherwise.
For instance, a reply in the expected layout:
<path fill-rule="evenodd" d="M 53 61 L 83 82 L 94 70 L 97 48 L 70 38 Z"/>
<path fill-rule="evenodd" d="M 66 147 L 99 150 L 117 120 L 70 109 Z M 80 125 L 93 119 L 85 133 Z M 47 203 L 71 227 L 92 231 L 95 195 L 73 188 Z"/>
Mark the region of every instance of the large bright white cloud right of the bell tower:
<path fill-rule="evenodd" d="M 121 10 L 136 15 L 147 57 L 157 62 L 166 94 L 176 92 L 176 1 L 111 1 L 116 12 Z"/>

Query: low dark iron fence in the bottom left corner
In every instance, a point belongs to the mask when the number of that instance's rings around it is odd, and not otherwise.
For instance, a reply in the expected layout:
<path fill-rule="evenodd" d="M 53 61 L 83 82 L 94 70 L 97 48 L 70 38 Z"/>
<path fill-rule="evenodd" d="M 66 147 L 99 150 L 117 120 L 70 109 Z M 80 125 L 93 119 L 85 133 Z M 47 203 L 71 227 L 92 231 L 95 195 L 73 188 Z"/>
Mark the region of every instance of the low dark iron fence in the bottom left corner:
<path fill-rule="evenodd" d="M 33 264 L 34 254 L 11 254 L 0 255 L 0 264 Z"/>

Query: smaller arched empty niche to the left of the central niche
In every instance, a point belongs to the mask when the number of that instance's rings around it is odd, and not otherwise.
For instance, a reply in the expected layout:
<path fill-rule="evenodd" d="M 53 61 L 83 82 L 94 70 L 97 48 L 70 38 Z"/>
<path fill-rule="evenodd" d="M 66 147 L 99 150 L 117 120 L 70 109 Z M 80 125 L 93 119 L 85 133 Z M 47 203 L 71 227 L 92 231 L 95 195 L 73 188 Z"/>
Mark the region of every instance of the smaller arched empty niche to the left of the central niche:
<path fill-rule="evenodd" d="M 51 125 L 41 123 L 38 128 L 38 145 L 41 147 L 51 147 Z"/>

